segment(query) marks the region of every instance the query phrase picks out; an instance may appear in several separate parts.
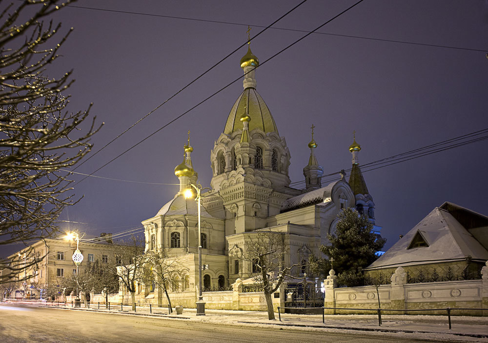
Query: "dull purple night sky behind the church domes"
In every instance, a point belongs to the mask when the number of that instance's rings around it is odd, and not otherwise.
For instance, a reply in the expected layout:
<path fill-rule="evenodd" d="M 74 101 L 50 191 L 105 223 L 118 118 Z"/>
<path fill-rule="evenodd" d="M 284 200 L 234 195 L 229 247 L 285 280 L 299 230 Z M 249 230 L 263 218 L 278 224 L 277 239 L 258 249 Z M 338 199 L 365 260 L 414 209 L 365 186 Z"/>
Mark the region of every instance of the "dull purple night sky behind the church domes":
<path fill-rule="evenodd" d="M 54 17 L 62 22 L 61 33 L 75 30 L 46 73 L 56 77 L 74 69 L 70 109 L 93 102 L 91 114 L 105 122 L 92 139 L 95 152 L 245 43 L 247 24 L 253 37 L 262 30 L 258 26 L 299 2 L 79 1 L 76 6 L 110 11 L 62 9 Z M 355 2 L 308 0 L 275 24 L 288 30 L 268 29 L 252 40 L 252 51 L 263 62 L 305 35 L 295 30 L 311 31 Z M 365 0 L 318 32 L 335 35 L 312 34 L 256 71 L 257 91 L 290 150 L 292 182 L 304 180 L 312 123 L 324 174 L 350 168 L 353 130 L 362 146 L 359 163 L 365 164 L 488 127 L 487 0 Z M 76 171 L 93 172 L 242 76 L 239 61 L 245 52 L 241 48 Z M 151 182 L 178 183 L 173 170 L 182 160 L 188 130 L 193 165 L 203 186 L 209 186 L 210 149 L 242 89 L 241 78 L 95 174 L 149 183 L 87 178 L 75 186 L 84 198 L 60 219 L 69 218 L 69 229 L 88 235 L 141 227 L 178 191 L 176 185 Z M 385 249 L 445 201 L 488 215 L 486 144 L 364 173 Z M 61 227 L 67 230 L 68 224 Z M 1 255 L 21 247 L 3 247 Z"/>

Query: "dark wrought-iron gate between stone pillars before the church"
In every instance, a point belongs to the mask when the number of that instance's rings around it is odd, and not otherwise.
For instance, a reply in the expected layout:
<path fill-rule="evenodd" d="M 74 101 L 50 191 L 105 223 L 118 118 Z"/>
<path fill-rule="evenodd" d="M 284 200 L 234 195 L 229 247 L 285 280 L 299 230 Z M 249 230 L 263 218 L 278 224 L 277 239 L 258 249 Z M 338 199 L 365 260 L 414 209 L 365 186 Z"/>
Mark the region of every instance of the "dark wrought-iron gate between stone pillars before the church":
<path fill-rule="evenodd" d="M 285 296 L 285 313 L 321 314 L 323 311 L 325 293 L 305 278 L 299 283 L 288 283 Z"/>

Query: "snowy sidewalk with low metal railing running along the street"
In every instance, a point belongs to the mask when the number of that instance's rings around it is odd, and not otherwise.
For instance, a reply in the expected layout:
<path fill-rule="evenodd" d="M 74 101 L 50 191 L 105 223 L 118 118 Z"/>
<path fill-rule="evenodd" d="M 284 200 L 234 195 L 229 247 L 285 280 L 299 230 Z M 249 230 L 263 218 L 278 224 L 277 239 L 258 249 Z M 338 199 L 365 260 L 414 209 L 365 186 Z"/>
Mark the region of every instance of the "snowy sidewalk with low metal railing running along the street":
<path fill-rule="evenodd" d="M 57 306 L 49 306 L 56 308 Z M 71 306 L 58 308 L 72 309 Z M 182 315 L 174 311 L 168 314 L 167 307 L 153 306 L 137 307 L 136 312 L 130 306 L 113 304 L 111 309 L 105 309 L 104 305 L 95 308 L 73 308 L 81 311 L 96 311 L 103 313 L 114 313 L 120 315 L 151 316 L 160 318 L 180 319 L 195 322 L 219 323 L 219 324 L 257 324 L 285 325 L 295 328 L 327 328 L 339 330 L 360 330 L 378 332 L 416 332 L 416 333 L 437 333 L 444 335 L 466 336 L 482 339 L 488 342 L 488 317 L 452 316 L 452 329 L 449 330 L 447 316 L 423 316 L 423 315 L 382 315 L 382 325 L 378 325 L 377 315 L 325 315 L 325 323 L 322 323 L 322 315 L 296 315 L 281 314 L 281 322 L 278 320 L 278 313 L 275 313 L 276 320 L 269 321 L 266 312 L 258 311 L 234 311 L 234 310 L 205 310 L 205 316 L 197 316 L 195 308 L 185 308 Z M 437 338 L 438 335 L 435 335 Z M 452 336 L 451 336 L 452 337 Z"/>

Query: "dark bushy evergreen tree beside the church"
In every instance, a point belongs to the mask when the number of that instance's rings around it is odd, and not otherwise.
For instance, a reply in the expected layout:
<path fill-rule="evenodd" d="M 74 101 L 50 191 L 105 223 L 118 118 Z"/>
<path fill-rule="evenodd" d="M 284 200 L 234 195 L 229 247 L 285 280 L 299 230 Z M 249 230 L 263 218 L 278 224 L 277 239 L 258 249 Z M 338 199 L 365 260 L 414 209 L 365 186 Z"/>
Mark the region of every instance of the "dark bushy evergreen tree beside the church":
<path fill-rule="evenodd" d="M 338 218 L 336 231 L 327 236 L 331 244 L 320 247 L 328 260 L 315 258 L 319 265 L 317 269 L 327 275 L 333 264 L 339 284 L 362 285 L 363 268 L 378 258 L 375 253 L 383 248 L 386 240 L 371 233 L 373 224 L 355 209 L 344 209 Z M 332 258 L 333 263 L 330 262 Z"/>

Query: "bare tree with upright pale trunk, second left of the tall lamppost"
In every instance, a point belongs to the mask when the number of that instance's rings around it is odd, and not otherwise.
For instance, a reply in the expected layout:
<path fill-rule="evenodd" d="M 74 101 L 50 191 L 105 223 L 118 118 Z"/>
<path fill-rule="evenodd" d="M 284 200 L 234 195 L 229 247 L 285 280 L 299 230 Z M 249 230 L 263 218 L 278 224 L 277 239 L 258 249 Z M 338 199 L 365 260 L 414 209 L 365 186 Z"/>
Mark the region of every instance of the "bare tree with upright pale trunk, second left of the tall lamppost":
<path fill-rule="evenodd" d="M 127 241 L 114 243 L 118 265 L 107 267 L 119 276 L 119 280 L 130 293 L 132 309 L 136 309 L 136 284 L 143 280 L 144 241 L 132 236 Z"/>

